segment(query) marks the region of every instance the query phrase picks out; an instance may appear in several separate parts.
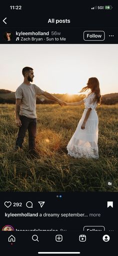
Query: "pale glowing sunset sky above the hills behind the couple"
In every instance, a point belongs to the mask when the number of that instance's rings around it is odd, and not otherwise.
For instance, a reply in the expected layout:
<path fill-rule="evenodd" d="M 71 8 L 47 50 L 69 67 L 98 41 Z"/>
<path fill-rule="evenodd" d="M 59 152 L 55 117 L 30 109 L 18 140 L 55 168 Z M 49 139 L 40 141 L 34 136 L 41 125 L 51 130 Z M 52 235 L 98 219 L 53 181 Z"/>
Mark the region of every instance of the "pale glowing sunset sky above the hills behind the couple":
<path fill-rule="evenodd" d="M 0 45 L 0 89 L 15 91 L 21 70 L 34 70 L 33 83 L 49 93 L 77 94 L 97 77 L 101 94 L 118 92 L 118 45 Z"/>

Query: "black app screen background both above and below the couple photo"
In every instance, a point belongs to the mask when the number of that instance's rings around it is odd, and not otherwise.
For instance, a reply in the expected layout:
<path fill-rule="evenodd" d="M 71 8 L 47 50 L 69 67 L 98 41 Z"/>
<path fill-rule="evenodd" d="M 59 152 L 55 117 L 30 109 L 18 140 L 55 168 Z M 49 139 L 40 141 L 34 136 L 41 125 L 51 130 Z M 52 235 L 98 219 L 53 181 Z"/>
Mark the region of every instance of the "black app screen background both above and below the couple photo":
<path fill-rule="evenodd" d="M 91 10 L 94 6 L 112 5 L 112 10 Z M 22 10 L 10 10 L 9 6 L 21 5 Z M 106 33 L 104 42 L 92 43 L 117 43 L 117 14 L 118 4 L 107 2 L 79 2 L 79 1 L 4 1 L 0 3 L 0 43 L 6 44 L 3 39 L 5 31 L 37 31 L 37 30 L 56 30 L 61 31 L 67 37 L 65 43 L 84 43 L 82 35 L 84 30 L 103 30 Z M 7 17 L 7 25 L 2 20 Z M 69 19 L 67 24 L 48 24 L 48 19 Z M 114 34 L 113 39 L 108 38 L 108 34 Z M 16 43 L 14 39 L 9 42 Z M 18 42 L 17 42 L 18 43 Z M 91 42 L 87 42 L 91 43 Z M 62 195 L 57 198 L 56 195 Z M 22 209 L 8 208 L 4 206 L 4 201 L 22 202 Z M 34 209 L 25 207 L 26 201 L 32 201 Z M 37 201 L 45 201 L 40 209 Z M 114 207 L 107 208 L 106 202 L 113 201 Z M 52 219 L 41 218 L 4 218 L 5 212 L 86 212 L 101 213 L 101 217 L 93 218 L 67 218 Z M 1 255 L 37 255 L 39 249 L 81 251 L 80 255 L 116 255 L 117 252 L 117 193 L 3 193 L 0 192 L 0 230 L 6 224 L 14 228 L 62 228 L 64 232 L 63 243 L 54 240 L 55 233 L 39 233 L 39 244 L 32 242 L 32 232 L 13 232 L 16 236 L 16 243 L 10 245 L 7 241 L 8 232 L 0 232 Z M 102 241 L 100 232 L 87 232 L 86 243 L 78 243 L 78 235 L 83 233 L 84 225 L 103 225 L 106 233 L 111 236 L 109 242 Z M 109 231 L 109 230 L 115 230 Z M 62 232 L 62 231 L 61 231 Z M 12 232 L 10 232 L 11 234 Z M 36 232 L 35 232 L 36 233 Z M 60 232 L 59 232 L 60 233 Z"/>

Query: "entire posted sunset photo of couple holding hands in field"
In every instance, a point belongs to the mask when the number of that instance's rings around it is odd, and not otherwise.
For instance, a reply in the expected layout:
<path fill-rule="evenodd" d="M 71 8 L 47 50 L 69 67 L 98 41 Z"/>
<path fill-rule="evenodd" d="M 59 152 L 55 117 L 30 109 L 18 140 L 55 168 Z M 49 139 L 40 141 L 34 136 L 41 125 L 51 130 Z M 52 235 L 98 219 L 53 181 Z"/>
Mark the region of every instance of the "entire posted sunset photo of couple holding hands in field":
<path fill-rule="evenodd" d="M 1 45 L 0 191 L 118 190 L 117 47 Z"/>

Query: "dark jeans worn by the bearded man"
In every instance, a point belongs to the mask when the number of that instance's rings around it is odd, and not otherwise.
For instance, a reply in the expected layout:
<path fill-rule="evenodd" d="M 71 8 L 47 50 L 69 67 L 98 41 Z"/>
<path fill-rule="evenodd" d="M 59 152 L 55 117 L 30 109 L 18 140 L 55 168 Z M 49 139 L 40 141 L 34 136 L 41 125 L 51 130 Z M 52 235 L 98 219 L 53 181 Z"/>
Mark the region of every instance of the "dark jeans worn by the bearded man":
<path fill-rule="evenodd" d="M 20 115 L 21 127 L 16 139 L 15 148 L 22 148 L 22 143 L 25 137 L 26 130 L 28 130 L 28 149 L 35 149 L 35 137 L 36 137 L 36 118 L 28 118 L 25 115 Z"/>

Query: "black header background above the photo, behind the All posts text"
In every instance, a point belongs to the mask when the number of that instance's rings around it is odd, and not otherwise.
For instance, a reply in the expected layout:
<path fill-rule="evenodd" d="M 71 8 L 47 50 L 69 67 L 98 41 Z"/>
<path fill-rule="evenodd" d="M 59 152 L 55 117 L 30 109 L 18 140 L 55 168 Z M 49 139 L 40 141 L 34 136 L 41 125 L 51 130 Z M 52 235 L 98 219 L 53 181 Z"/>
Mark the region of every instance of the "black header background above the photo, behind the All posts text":
<path fill-rule="evenodd" d="M 104 31 L 105 41 L 87 42 L 95 44 L 104 43 L 117 43 L 117 10 L 118 4 L 109 3 L 113 8 L 112 10 L 91 10 L 94 6 L 107 5 L 105 2 L 78 2 L 72 1 L 43 1 L 43 2 L 22 2 L 11 1 L 9 3 L 2 2 L 0 8 L 0 43 L 2 44 L 17 44 L 14 35 L 15 31 L 59 31 L 62 32 L 63 37 L 66 37 L 66 42 L 41 42 L 41 43 L 65 43 L 65 44 L 86 44 L 83 40 L 83 32 L 85 30 L 99 30 Z M 22 10 L 10 10 L 10 6 L 21 5 Z M 6 25 L 3 19 L 7 18 Z M 70 23 L 50 24 L 48 19 L 70 20 Z M 13 33 L 13 38 L 10 42 L 3 39 L 3 33 L 10 31 Z M 114 34 L 113 38 L 108 35 Z M 35 42 L 20 42 L 22 43 L 35 43 Z"/>

